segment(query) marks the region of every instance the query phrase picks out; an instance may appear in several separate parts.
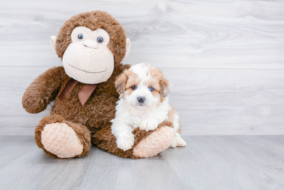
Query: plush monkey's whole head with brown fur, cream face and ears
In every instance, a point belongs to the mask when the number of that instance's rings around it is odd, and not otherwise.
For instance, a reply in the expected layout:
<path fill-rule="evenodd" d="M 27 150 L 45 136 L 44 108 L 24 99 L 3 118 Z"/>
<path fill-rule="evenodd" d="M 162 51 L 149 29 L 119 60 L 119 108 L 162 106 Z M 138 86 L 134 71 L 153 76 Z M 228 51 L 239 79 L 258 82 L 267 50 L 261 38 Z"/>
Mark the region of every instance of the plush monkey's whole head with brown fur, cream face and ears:
<path fill-rule="evenodd" d="M 85 84 L 107 81 L 131 46 L 122 25 L 99 10 L 71 17 L 50 42 L 66 74 Z"/>

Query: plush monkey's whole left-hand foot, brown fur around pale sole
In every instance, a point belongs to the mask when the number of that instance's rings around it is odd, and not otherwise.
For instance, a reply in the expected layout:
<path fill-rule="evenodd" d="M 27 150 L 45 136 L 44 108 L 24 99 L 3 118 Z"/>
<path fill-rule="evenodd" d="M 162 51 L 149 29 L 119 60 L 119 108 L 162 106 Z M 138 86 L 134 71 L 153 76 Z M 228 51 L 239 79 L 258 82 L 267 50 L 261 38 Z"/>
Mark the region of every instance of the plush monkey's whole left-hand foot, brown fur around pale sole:
<path fill-rule="evenodd" d="M 80 157 L 88 154 L 91 146 L 89 129 L 60 115 L 44 117 L 34 138 L 39 148 L 53 158 Z"/>

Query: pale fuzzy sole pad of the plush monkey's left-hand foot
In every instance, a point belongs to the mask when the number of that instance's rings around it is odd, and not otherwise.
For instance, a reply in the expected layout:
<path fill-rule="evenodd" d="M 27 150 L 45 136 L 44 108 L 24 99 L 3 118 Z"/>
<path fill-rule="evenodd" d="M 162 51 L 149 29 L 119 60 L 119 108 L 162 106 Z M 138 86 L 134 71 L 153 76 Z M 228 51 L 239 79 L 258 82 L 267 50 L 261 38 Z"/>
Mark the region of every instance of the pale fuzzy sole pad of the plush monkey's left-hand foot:
<path fill-rule="evenodd" d="M 78 136 L 66 123 L 45 125 L 41 131 L 41 143 L 47 151 L 59 158 L 72 158 L 83 152 Z"/>

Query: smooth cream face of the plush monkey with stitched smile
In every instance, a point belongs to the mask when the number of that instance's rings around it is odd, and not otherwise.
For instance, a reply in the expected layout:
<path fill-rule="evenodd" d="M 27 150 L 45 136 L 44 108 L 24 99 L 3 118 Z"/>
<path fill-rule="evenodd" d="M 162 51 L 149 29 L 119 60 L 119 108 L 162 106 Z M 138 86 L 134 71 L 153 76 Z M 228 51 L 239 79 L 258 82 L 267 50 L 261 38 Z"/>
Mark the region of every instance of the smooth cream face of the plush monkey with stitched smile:
<path fill-rule="evenodd" d="M 62 57 L 66 74 L 85 84 L 107 81 L 114 69 L 114 56 L 107 46 L 108 33 L 101 28 L 92 31 L 80 26 L 72 30 L 71 40 Z"/>

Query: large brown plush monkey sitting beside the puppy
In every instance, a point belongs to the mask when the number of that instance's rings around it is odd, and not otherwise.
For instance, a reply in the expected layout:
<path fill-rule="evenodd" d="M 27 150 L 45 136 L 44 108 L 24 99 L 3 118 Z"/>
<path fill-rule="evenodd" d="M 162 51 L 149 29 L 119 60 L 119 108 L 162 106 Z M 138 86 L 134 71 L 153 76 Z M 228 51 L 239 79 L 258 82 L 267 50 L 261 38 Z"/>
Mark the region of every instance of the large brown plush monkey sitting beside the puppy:
<path fill-rule="evenodd" d="M 92 144 L 121 157 L 147 158 L 169 147 L 174 131 L 166 121 L 153 131 L 135 129 L 132 149 L 116 147 L 110 127 L 119 97 L 114 81 L 130 67 L 121 64 L 130 40 L 118 21 L 103 11 L 78 14 L 51 37 L 51 44 L 63 66 L 34 79 L 22 99 L 28 113 L 39 113 L 54 101 L 50 116 L 35 129 L 39 148 L 53 158 L 72 158 L 88 154 Z"/>

